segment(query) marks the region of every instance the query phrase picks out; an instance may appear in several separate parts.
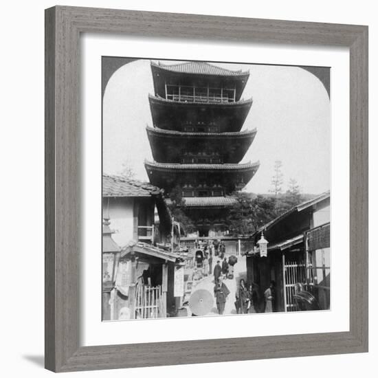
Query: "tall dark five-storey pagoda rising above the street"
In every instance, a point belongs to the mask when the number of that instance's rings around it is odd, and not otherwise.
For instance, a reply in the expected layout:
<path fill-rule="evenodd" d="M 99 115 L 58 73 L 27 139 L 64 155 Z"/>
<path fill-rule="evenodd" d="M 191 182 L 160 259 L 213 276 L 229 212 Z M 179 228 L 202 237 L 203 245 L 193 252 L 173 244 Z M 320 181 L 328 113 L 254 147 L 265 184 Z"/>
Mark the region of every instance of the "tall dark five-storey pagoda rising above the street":
<path fill-rule="evenodd" d="M 239 164 L 256 129 L 241 131 L 252 99 L 241 100 L 249 72 L 205 62 L 151 63 L 155 96 L 147 126 L 154 162 L 145 162 L 151 184 L 179 187 L 198 236 L 223 236 L 225 219 L 257 163 Z"/>

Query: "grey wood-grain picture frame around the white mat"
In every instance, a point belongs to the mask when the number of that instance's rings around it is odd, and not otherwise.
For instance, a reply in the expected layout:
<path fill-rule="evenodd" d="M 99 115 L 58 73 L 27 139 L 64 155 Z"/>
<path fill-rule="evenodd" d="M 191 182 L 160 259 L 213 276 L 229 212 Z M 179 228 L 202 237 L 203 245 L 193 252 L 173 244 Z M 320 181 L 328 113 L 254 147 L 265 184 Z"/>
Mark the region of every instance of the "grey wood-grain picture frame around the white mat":
<path fill-rule="evenodd" d="M 82 32 L 350 49 L 350 330 L 108 346 L 78 342 Z M 56 372 L 368 351 L 368 27 L 56 6 L 45 11 L 45 367 Z M 209 352 L 210 351 L 210 352 Z"/>

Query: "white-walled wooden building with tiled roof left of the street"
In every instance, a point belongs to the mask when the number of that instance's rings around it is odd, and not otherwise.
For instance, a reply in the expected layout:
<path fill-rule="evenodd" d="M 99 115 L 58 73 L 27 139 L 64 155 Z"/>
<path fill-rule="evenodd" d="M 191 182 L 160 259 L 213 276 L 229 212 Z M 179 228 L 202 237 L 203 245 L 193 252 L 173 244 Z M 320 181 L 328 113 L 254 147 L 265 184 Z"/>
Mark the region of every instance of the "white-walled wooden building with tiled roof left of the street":
<path fill-rule="evenodd" d="M 165 318 L 184 285 L 177 278 L 184 268 L 172 252 L 177 227 L 162 190 L 103 175 L 102 207 L 102 319 Z"/>

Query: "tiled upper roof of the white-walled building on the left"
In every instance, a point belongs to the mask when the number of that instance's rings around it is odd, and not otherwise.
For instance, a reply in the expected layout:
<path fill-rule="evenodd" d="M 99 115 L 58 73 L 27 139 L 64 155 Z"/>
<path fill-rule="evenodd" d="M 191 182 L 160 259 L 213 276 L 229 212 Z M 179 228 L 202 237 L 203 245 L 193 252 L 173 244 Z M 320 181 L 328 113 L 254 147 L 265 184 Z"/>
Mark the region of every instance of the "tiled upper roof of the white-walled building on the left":
<path fill-rule="evenodd" d="M 102 197 L 150 197 L 159 188 L 146 182 L 116 175 L 102 175 Z"/>

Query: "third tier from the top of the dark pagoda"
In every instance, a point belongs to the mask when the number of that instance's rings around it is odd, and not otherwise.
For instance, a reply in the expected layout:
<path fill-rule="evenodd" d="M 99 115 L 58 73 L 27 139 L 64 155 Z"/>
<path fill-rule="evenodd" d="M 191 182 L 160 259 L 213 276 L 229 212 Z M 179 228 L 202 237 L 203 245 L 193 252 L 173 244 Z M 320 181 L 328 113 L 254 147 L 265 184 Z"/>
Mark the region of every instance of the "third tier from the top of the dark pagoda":
<path fill-rule="evenodd" d="M 241 162 L 257 132 L 181 133 L 148 126 L 146 131 L 156 162 L 184 164 Z"/>

